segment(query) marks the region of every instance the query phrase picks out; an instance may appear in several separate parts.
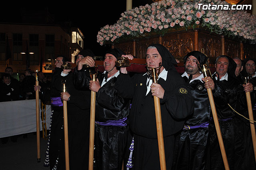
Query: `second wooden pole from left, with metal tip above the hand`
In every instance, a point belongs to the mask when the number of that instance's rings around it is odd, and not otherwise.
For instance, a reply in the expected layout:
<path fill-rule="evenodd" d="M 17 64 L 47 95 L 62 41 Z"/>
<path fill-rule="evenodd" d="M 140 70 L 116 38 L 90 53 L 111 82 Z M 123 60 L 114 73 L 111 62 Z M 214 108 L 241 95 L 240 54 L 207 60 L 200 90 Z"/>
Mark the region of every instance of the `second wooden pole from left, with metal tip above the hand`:
<path fill-rule="evenodd" d="M 62 85 L 63 85 L 63 92 L 66 92 L 65 82 L 63 82 Z M 63 100 L 63 122 L 64 122 L 65 165 L 66 165 L 66 170 L 69 170 L 68 110 L 67 110 L 67 101 L 65 100 Z"/>

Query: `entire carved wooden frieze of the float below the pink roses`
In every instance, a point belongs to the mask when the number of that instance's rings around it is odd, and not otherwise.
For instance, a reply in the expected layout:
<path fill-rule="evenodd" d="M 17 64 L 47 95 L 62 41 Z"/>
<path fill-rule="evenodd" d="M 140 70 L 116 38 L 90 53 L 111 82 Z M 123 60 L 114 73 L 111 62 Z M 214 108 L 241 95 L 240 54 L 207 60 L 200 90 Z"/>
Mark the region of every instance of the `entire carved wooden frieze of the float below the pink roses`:
<path fill-rule="evenodd" d="M 183 62 L 184 56 L 193 51 L 198 44 L 198 50 L 204 49 L 204 54 L 210 59 L 210 65 L 214 64 L 216 58 L 222 55 L 221 35 L 210 34 L 201 29 L 198 29 L 196 33 L 198 33 L 198 42 L 195 42 L 194 30 L 188 30 L 187 32 L 177 30 L 176 32 L 168 32 L 161 38 L 159 36 L 148 36 L 127 40 L 114 44 L 114 48 L 120 48 L 126 54 L 135 55 L 137 58 L 146 58 L 146 48 L 150 44 L 162 42 L 162 45 L 172 53 L 174 58 Z M 224 37 L 223 50 L 224 54 L 231 58 L 256 58 L 256 44 L 243 43 L 241 45 L 238 40 Z"/>

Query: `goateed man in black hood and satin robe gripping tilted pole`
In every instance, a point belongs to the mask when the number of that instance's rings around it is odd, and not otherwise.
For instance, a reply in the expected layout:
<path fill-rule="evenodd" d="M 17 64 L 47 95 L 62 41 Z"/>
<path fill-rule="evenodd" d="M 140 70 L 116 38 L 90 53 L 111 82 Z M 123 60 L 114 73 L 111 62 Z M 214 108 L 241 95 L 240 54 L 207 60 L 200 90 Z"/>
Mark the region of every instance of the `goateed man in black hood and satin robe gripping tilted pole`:
<path fill-rule="evenodd" d="M 205 64 L 207 56 L 199 51 L 189 52 L 184 57 L 185 72 L 182 74 L 194 98 L 194 113 L 186 120 L 178 133 L 175 144 L 174 170 L 210 169 L 209 122 L 210 102 L 207 88 L 213 92 L 214 82 L 200 72 L 198 64 Z M 215 87 L 216 88 L 216 87 Z"/>

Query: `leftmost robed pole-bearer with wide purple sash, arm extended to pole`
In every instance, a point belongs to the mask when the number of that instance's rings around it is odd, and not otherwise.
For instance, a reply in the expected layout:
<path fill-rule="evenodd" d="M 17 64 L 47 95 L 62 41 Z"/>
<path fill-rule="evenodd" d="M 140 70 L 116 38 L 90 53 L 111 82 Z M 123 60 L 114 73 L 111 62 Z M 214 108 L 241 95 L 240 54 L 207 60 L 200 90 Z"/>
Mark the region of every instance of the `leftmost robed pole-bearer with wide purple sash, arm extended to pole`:
<path fill-rule="evenodd" d="M 46 150 L 46 160 L 44 166 L 50 169 L 65 169 L 65 153 L 64 153 L 64 131 L 63 131 L 63 103 L 60 93 L 63 91 L 62 80 L 66 80 L 71 70 L 62 70 L 61 66 L 67 61 L 64 56 L 58 56 L 55 62 L 54 73 L 50 89 L 34 86 L 34 90 L 40 89 L 40 100 L 51 101 L 52 115 L 50 124 L 50 134 L 48 149 Z"/>

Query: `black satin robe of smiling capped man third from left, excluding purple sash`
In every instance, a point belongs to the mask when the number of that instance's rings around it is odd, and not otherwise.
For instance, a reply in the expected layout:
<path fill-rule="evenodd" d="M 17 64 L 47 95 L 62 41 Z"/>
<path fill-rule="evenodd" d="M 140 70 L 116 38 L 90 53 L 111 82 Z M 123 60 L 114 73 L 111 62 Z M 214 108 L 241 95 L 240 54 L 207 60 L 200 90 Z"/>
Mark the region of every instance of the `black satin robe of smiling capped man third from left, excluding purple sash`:
<path fill-rule="evenodd" d="M 102 84 L 104 74 L 98 74 L 98 80 Z M 89 71 L 74 70 L 74 85 L 83 90 L 88 88 Z M 129 113 L 130 100 L 122 98 L 114 89 L 116 77 L 111 78 L 96 93 L 95 121 L 106 122 L 126 118 Z M 128 122 L 127 122 L 128 123 Z M 94 134 L 94 168 L 96 170 L 120 170 L 122 161 L 126 158 L 128 126 L 106 126 L 95 124 Z"/>

